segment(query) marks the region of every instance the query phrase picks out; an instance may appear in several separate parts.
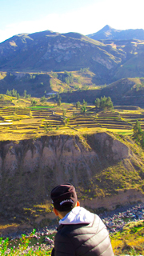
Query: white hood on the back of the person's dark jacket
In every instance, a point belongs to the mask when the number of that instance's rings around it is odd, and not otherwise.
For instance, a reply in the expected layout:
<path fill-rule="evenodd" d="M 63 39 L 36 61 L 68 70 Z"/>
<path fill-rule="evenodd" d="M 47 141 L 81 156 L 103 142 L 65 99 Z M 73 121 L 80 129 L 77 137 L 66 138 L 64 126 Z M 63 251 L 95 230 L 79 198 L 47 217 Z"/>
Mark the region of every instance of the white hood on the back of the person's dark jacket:
<path fill-rule="evenodd" d="M 59 221 L 59 224 L 90 224 L 94 221 L 94 214 L 83 207 L 74 207 L 70 213 L 66 214 L 64 218 Z"/>

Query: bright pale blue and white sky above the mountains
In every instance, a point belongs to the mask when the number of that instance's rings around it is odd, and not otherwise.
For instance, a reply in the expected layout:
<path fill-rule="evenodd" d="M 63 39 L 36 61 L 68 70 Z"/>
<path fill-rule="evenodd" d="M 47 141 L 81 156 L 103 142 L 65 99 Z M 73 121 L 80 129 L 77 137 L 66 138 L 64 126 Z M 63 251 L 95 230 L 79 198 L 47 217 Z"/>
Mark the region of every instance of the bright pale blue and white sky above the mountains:
<path fill-rule="evenodd" d="M 0 0 L 0 42 L 43 30 L 93 34 L 103 26 L 144 29 L 144 0 Z"/>

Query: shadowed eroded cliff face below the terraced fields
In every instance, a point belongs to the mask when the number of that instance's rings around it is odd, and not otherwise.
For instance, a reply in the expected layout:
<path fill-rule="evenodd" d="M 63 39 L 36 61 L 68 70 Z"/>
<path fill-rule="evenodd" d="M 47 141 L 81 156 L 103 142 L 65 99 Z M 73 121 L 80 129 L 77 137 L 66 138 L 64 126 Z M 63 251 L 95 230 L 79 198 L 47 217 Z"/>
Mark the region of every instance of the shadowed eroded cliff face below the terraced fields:
<path fill-rule="evenodd" d="M 83 198 L 87 190 L 91 197 L 102 191 L 102 200 L 106 196 L 103 190 L 108 188 L 109 194 L 114 194 L 115 185 L 113 180 L 99 182 L 98 175 L 118 163 L 124 170 L 135 172 L 133 162 L 138 161 L 128 146 L 106 133 L 44 136 L 0 144 L 1 213 L 2 209 L 49 200 L 50 190 L 61 182 L 72 182 Z M 138 168 L 141 171 L 142 163 Z"/>

